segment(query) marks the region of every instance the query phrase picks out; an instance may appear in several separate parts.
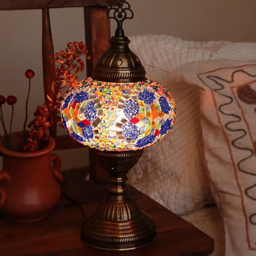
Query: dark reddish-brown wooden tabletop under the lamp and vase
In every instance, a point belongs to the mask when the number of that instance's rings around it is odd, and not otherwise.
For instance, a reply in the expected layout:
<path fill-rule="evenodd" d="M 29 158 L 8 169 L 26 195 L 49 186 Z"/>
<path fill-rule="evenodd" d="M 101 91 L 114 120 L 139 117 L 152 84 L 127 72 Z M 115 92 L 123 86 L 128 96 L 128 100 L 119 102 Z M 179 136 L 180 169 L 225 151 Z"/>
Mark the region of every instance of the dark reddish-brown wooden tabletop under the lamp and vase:
<path fill-rule="evenodd" d="M 65 175 L 62 190 L 77 200 L 86 214 L 93 211 L 106 195 L 106 185 L 85 181 L 79 175 Z M 47 186 L 46 186 L 47 189 Z M 65 198 L 43 220 L 15 223 L 0 217 L 1 256 L 205 256 L 214 250 L 214 241 L 189 222 L 175 215 L 147 195 L 130 186 L 129 193 L 138 205 L 153 217 L 157 239 L 143 248 L 113 252 L 88 247 L 80 239 L 82 213 Z"/>

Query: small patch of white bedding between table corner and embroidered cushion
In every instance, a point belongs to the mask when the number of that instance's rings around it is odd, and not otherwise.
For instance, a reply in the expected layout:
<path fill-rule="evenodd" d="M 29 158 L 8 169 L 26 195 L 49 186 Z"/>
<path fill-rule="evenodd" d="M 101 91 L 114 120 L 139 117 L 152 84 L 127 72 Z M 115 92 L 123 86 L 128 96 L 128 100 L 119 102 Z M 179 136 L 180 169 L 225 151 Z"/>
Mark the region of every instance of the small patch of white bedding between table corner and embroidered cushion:
<path fill-rule="evenodd" d="M 225 255 L 224 226 L 217 206 L 203 207 L 182 218 L 214 239 L 215 250 L 210 256 Z"/>

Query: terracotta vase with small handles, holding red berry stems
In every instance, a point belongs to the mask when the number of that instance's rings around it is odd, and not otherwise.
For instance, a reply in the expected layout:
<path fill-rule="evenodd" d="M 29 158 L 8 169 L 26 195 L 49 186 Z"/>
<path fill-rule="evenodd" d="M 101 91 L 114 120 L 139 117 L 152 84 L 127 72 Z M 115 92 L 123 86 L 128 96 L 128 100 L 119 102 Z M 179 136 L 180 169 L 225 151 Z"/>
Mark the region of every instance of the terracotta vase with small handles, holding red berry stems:
<path fill-rule="evenodd" d="M 0 211 L 16 222 L 34 222 L 46 217 L 59 200 L 63 182 L 59 172 L 61 159 L 51 154 L 54 139 L 48 136 L 48 145 L 36 152 L 16 152 L 21 147 L 22 132 L 12 133 L 7 150 L 0 142 L 3 165 L 0 172 Z M 53 167 L 51 167 L 53 163 Z"/>

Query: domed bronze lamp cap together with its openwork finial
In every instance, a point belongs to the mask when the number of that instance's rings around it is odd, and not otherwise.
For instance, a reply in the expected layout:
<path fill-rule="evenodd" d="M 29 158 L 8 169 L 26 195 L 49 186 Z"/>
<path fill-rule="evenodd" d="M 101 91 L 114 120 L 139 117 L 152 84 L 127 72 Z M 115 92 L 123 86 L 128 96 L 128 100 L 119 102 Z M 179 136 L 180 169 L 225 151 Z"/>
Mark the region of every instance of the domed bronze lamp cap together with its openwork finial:
<path fill-rule="evenodd" d="M 122 25 L 133 18 L 130 4 L 123 0 L 117 7 L 110 6 L 107 17 L 117 22 L 115 36 L 110 39 L 111 47 L 99 59 L 93 71 L 93 79 L 103 82 L 129 83 L 146 80 L 146 71 L 129 48 L 130 40 L 125 37 Z"/>

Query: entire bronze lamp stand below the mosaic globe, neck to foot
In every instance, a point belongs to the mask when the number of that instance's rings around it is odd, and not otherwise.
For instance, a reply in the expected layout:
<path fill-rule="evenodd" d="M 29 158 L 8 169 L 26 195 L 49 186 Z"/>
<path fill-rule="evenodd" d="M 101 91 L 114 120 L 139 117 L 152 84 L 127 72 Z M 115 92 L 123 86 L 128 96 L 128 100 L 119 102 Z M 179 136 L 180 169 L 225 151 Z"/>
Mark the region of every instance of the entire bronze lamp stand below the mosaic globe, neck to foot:
<path fill-rule="evenodd" d="M 90 246 L 104 250 L 133 250 L 156 237 L 153 219 L 142 211 L 127 192 L 126 174 L 143 150 L 95 150 L 99 163 L 109 171 L 109 194 L 99 203 L 82 225 L 82 239 Z"/>

